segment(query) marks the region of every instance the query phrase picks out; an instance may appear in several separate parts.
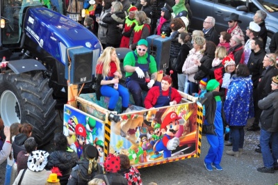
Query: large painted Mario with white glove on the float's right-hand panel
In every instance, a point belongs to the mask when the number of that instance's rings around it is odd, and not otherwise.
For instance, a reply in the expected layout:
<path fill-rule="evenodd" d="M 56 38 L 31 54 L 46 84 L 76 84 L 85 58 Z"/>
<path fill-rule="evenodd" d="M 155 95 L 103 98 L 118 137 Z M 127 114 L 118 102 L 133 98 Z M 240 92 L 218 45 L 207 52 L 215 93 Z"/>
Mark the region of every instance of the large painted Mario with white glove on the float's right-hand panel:
<path fill-rule="evenodd" d="M 163 151 L 163 158 L 171 156 L 171 150 L 175 150 L 179 146 L 179 137 L 183 133 L 183 123 L 182 118 L 174 111 L 165 116 L 161 124 L 161 132 L 164 136 L 154 145 L 155 152 L 150 159 L 156 159 L 161 156 L 159 153 L 161 151 Z"/>

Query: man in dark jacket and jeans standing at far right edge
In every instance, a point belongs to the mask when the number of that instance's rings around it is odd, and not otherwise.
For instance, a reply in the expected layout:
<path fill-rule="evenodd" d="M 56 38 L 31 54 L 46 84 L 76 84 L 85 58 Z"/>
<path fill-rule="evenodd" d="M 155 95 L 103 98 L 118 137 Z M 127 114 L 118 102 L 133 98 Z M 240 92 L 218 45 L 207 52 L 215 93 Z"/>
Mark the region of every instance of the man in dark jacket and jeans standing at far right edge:
<path fill-rule="evenodd" d="M 259 172 L 274 173 L 278 170 L 278 76 L 272 77 L 272 93 L 259 101 L 261 113 L 261 154 L 263 156 L 263 167 L 257 168 Z M 272 152 L 270 145 L 272 145 Z"/>

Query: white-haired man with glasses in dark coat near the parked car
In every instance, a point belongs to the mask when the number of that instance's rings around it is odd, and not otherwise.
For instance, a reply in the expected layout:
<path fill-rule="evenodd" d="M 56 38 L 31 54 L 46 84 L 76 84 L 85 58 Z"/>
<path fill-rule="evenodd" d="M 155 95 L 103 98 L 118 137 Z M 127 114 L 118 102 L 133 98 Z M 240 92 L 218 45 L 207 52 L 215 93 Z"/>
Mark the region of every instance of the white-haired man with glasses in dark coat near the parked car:
<path fill-rule="evenodd" d="M 219 44 L 219 36 L 218 32 L 216 31 L 215 27 L 215 19 L 214 17 L 206 17 L 203 22 L 203 32 L 204 32 L 204 38 L 206 40 L 210 40 L 214 42 L 215 45 Z"/>

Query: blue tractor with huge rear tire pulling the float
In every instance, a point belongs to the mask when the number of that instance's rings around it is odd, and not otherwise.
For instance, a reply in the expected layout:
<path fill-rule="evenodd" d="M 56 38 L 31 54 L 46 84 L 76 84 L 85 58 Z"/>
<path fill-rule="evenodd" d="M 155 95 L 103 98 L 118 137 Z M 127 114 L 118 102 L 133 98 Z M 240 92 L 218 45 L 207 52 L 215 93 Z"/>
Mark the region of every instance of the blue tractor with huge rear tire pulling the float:
<path fill-rule="evenodd" d="M 40 1 L 1 0 L 0 6 L 0 62 L 3 56 L 9 61 L 0 74 L 1 118 L 5 125 L 32 124 L 42 146 L 53 138 L 57 102 L 67 99 L 67 49 L 90 49 L 94 75 L 101 44 L 84 26 Z"/>

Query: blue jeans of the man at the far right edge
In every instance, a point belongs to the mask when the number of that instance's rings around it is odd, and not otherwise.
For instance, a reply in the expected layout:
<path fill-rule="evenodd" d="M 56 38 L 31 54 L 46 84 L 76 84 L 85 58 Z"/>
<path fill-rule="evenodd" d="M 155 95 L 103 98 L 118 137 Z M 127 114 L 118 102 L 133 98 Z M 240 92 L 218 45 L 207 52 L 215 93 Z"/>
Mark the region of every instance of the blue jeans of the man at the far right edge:
<path fill-rule="evenodd" d="M 272 143 L 272 153 L 269 143 Z M 261 154 L 263 155 L 263 165 L 266 168 L 277 166 L 278 159 L 278 131 L 270 132 L 261 129 L 260 137 Z"/>

